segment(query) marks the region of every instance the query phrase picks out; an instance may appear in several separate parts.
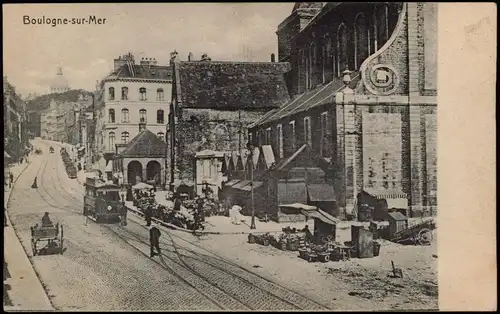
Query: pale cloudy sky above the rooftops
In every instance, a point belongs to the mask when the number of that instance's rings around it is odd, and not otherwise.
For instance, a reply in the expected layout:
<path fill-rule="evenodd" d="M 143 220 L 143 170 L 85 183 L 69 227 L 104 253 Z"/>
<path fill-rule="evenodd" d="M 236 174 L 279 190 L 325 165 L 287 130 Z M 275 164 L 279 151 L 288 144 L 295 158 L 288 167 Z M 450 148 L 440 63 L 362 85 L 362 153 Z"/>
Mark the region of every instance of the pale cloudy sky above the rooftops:
<path fill-rule="evenodd" d="M 136 60 L 167 65 L 207 53 L 212 60 L 270 61 L 277 54 L 276 29 L 292 11 L 284 3 L 8 4 L 3 5 L 4 76 L 26 96 L 49 91 L 57 67 L 74 89 L 93 91 L 113 68 L 113 59 L 132 52 Z M 32 25 L 33 18 L 105 18 L 102 25 Z M 248 54 L 247 54 L 248 55 Z"/>

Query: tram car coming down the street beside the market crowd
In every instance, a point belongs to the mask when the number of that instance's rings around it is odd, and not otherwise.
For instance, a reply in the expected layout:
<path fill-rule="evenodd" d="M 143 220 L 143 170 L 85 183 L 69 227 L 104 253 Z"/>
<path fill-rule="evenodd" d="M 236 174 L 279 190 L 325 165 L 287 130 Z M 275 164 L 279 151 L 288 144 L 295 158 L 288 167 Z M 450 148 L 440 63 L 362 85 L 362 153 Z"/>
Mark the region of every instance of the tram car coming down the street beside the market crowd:
<path fill-rule="evenodd" d="M 83 215 L 95 222 L 117 223 L 125 217 L 125 204 L 120 199 L 120 188 L 100 178 L 87 178 Z"/>

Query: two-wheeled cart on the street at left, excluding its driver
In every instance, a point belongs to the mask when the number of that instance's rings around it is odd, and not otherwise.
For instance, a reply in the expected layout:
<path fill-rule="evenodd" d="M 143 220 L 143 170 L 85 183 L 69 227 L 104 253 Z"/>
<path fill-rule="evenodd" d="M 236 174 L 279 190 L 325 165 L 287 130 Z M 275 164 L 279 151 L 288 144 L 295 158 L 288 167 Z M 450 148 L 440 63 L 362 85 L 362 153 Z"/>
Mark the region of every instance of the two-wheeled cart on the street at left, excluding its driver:
<path fill-rule="evenodd" d="M 63 237 L 64 229 L 59 223 L 50 227 L 40 227 L 38 225 L 31 227 L 31 248 L 33 250 L 33 256 L 39 254 L 42 250 L 63 254 Z M 39 249 L 39 242 L 47 242 L 47 244 Z"/>

